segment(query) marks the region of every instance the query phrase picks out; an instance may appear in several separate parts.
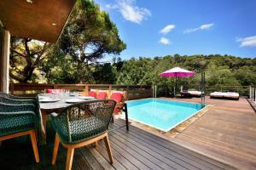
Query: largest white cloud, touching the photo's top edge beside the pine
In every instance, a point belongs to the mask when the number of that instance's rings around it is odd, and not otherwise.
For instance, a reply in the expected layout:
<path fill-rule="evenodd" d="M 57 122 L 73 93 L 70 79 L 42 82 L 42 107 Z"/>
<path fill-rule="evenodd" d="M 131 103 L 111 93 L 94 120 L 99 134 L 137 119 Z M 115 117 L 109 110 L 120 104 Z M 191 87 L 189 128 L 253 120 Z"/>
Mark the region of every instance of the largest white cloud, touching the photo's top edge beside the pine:
<path fill-rule="evenodd" d="M 135 0 L 116 0 L 116 4 L 108 4 L 106 8 L 117 9 L 125 20 L 140 24 L 143 20 L 147 20 L 151 13 L 148 8 L 137 7 L 135 3 Z"/>

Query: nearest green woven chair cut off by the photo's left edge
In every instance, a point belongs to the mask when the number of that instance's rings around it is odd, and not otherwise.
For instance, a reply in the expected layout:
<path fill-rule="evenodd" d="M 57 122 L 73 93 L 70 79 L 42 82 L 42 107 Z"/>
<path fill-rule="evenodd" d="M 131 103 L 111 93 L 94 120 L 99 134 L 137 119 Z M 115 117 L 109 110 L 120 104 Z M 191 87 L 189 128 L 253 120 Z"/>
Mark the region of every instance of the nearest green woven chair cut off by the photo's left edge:
<path fill-rule="evenodd" d="M 29 134 L 35 159 L 39 162 L 36 111 L 35 105 L 32 104 L 12 105 L 0 102 L 0 141 Z"/>

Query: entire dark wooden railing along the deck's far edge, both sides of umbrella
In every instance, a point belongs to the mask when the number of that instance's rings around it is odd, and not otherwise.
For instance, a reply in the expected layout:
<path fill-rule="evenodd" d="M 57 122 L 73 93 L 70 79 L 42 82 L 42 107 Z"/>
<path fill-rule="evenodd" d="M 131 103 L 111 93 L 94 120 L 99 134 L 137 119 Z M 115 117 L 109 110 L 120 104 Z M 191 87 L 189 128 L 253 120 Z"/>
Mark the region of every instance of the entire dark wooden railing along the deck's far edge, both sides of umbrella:
<path fill-rule="evenodd" d="M 126 99 L 142 99 L 148 97 L 155 97 L 158 94 L 159 88 L 150 85 L 116 85 L 116 84 L 36 84 L 36 83 L 11 83 L 10 93 L 17 95 L 35 95 L 43 93 L 44 89 L 69 89 L 77 90 L 88 94 L 90 89 L 98 90 L 121 90 L 125 91 Z M 189 86 L 189 88 L 194 88 L 200 90 L 200 86 Z M 256 102 L 256 87 L 250 86 L 206 86 L 206 94 L 209 95 L 214 91 L 221 92 L 236 92 L 240 96 L 250 97 L 251 100 Z M 252 93 L 254 92 L 254 93 Z M 157 95 L 157 97 L 161 97 Z"/>

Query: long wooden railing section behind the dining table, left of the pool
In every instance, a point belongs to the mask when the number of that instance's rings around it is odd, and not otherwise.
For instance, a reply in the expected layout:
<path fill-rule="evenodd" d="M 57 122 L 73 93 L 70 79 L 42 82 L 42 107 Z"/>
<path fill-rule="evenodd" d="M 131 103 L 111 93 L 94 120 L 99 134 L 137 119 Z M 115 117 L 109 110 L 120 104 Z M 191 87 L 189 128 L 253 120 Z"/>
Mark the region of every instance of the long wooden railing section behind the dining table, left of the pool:
<path fill-rule="evenodd" d="M 33 96 L 44 93 L 45 89 L 68 89 L 88 94 L 90 89 L 124 91 L 126 99 L 142 99 L 152 97 L 150 85 L 116 85 L 116 84 L 35 84 L 11 83 L 10 93 L 15 95 Z"/>

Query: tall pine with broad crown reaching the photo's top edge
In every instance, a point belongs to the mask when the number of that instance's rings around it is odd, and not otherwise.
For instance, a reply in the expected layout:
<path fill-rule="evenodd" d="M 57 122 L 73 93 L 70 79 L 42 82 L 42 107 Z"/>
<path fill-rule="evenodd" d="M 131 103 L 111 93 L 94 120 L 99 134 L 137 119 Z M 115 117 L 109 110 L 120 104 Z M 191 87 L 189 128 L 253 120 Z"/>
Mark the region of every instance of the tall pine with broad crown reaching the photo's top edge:
<path fill-rule="evenodd" d="M 106 12 L 90 0 L 78 0 L 61 35 L 61 54 L 73 59 L 77 82 L 90 82 L 91 70 L 104 54 L 119 54 L 126 48 Z"/>

